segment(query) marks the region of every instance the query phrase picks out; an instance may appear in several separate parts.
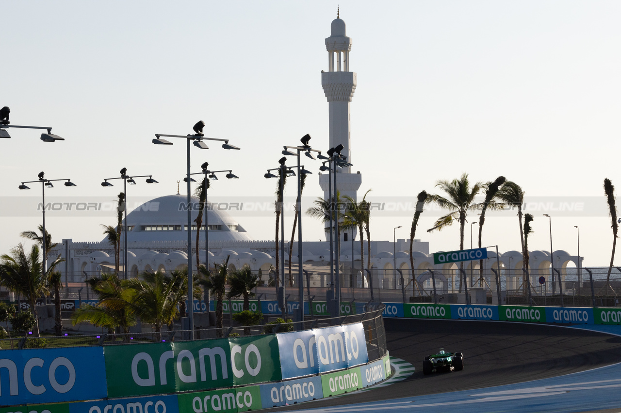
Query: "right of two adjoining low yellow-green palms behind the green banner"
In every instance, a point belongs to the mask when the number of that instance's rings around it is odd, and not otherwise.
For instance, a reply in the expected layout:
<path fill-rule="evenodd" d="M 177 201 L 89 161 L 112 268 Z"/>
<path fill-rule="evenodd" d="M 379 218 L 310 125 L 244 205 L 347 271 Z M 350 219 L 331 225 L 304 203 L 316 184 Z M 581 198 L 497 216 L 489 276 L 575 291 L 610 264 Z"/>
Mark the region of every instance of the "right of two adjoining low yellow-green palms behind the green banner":
<path fill-rule="evenodd" d="M 143 272 L 140 278 L 129 280 L 129 287 L 136 290 L 135 299 L 132 301 L 133 311 L 144 322 L 149 322 L 155 327 L 156 340 L 161 340 L 161 327 L 171 326 L 179 314 L 178 297 L 183 283 L 175 278 L 181 273 L 176 272 L 173 277 L 164 272 Z"/>

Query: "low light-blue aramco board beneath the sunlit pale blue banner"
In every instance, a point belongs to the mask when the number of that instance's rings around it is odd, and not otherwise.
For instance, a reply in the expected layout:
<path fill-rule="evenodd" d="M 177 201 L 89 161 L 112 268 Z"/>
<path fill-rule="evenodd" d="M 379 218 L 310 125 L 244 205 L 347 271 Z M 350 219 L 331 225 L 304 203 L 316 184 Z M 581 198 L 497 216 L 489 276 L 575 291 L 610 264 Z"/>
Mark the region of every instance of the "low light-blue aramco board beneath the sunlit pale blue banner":
<path fill-rule="evenodd" d="M 324 397 L 320 376 L 287 380 L 281 383 L 262 384 L 259 387 L 261 389 L 263 409 L 322 399 Z"/>

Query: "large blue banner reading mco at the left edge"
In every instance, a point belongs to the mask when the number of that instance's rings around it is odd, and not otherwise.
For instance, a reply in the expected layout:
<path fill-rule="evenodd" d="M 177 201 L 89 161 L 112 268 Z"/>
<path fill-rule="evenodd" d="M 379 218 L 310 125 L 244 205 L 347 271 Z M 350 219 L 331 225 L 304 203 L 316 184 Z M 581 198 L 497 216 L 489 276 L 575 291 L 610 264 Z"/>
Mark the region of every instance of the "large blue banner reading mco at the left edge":
<path fill-rule="evenodd" d="M 5 406 L 106 397 L 103 348 L 2 350 L 0 396 Z"/>

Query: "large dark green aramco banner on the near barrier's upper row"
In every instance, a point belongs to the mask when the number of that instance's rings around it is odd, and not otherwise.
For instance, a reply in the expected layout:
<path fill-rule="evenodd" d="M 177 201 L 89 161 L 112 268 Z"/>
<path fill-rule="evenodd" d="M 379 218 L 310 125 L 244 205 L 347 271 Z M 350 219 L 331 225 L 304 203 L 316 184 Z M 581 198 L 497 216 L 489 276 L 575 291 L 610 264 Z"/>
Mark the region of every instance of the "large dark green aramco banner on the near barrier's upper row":
<path fill-rule="evenodd" d="M 281 380 L 275 335 L 104 348 L 108 397 Z"/>

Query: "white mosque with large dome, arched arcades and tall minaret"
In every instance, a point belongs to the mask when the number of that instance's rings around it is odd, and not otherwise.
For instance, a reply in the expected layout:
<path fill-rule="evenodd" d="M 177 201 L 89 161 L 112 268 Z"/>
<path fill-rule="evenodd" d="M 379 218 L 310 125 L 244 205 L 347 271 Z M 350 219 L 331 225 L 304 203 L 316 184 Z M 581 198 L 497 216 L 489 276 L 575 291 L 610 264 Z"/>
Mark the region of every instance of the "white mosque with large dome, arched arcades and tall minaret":
<path fill-rule="evenodd" d="M 350 71 L 351 38 L 345 31 L 345 22 L 337 16 L 332 21 L 330 37 L 325 39 L 328 51 L 328 70 L 321 74 L 322 87 L 329 102 L 329 131 L 330 147 L 343 145 L 342 154 L 351 162 L 350 136 L 350 103 L 356 89 L 356 73 Z M 360 188 L 362 175 L 352 172 L 349 167 L 338 171 L 338 190 L 343 195 L 356 199 L 356 192 Z M 324 199 L 330 198 L 329 180 L 327 174 L 319 175 L 319 184 L 324 190 Z M 194 200 L 197 202 L 197 200 Z M 196 239 L 196 225 L 188 228 L 187 212 L 179 206 L 186 203 L 186 196 L 166 195 L 155 198 L 136 208 L 127 215 L 127 269 L 130 276 L 137 276 L 141 272 L 155 272 L 158 270 L 170 272 L 182 269 L 188 265 L 188 233 L 192 232 L 192 239 Z M 156 205 L 156 208 L 153 206 Z M 202 265 L 209 261 L 209 267 L 220 264 L 229 257 L 231 269 L 249 265 L 253 271 L 260 273 L 264 281 L 270 277 L 270 270 L 275 263 L 275 243 L 273 240 L 255 241 L 229 213 L 217 208 L 206 208 L 206 218 L 199 241 L 199 259 Z M 205 226 L 209 233 L 209 245 L 206 248 L 204 240 Z M 367 286 L 368 273 L 360 272 L 360 249 L 353 247 L 355 233 L 340 234 L 341 251 L 340 262 L 343 265 L 342 273 L 351 275 L 345 277 L 343 286 Z M 351 248 L 349 247 L 351 242 Z M 195 245 L 192 246 L 193 255 Z M 207 252 L 206 252 L 207 250 Z M 357 251 L 356 251 L 357 250 Z M 365 246 L 366 250 L 366 246 Z M 371 241 L 371 277 L 373 285 L 383 288 L 400 287 L 400 280 L 395 269 L 402 270 L 404 277 L 411 280 L 412 272 L 420 285 L 430 278 L 428 269 L 433 269 L 440 285 L 440 292 L 446 292 L 456 285 L 457 266 L 455 264 L 433 264 L 433 255 L 429 254 L 428 242 L 414 240 L 412 246 L 414 269 L 410 269 L 409 239 L 399 239 L 396 243 L 389 241 Z M 299 264 L 297 242 L 294 242 L 291 257 L 288 255 L 288 242 L 284 261 L 291 260 L 292 265 Z M 394 254 L 396 252 L 396 254 Z M 61 272 L 69 282 L 82 282 L 85 277 L 91 277 L 114 270 L 114 249 L 107 239 L 97 242 L 75 242 L 73 239 L 63 239 L 61 245 L 50 251 L 50 257 L 58 254 L 66 259 L 61 265 Z M 122 257 L 123 254 L 121 254 Z M 366 255 L 366 251 L 365 251 Z M 508 289 L 519 288 L 522 277 L 522 254 L 509 251 L 496 257 L 489 252 L 488 259 L 484 260 L 486 282 L 489 288 L 494 288 L 494 277 L 487 269 L 497 268 L 504 270 Z M 366 260 L 365 256 L 365 260 Z M 326 274 L 329 274 L 330 242 L 305 241 L 302 244 L 302 260 L 304 269 L 311 273 L 312 286 L 327 286 Z M 282 259 L 281 259 L 282 262 Z M 555 267 L 566 269 L 573 263 L 579 267 L 579 257 L 569 255 L 564 251 L 555 251 Z M 194 267 L 196 257 L 193 257 Z M 466 266 L 469 270 L 470 267 Z M 478 268 L 478 261 L 476 262 Z M 366 262 L 365 262 L 366 267 Z M 537 284 L 540 275 L 550 274 L 550 252 L 530 252 L 530 267 L 532 284 Z M 63 268 L 65 268 L 63 270 Z M 121 260 L 121 268 L 124 264 Z M 412 271 L 413 270 L 413 271 Z M 523 280 L 522 280 L 523 281 Z M 411 284 L 408 282 L 411 288 Z"/>

